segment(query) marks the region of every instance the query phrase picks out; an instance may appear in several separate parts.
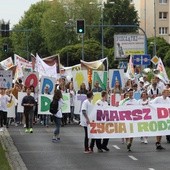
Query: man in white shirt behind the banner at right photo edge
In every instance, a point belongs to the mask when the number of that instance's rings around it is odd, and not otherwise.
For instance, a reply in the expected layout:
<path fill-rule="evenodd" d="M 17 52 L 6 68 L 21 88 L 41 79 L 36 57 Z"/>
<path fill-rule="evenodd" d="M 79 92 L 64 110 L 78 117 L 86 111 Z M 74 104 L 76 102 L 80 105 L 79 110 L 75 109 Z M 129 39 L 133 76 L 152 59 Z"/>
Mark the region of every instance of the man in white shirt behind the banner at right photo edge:
<path fill-rule="evenodd" d="M 169 98 L 169 90 L 164 89 L 162 91 L 162 96 L 158 96 L 155 99 L 150 101 L 150 104 L 170 104 L 170 98 Z M 162 136 L 156 136 L 156 149 L 162 150 L 165 149 L 161 146 L 161 139 Z"/>

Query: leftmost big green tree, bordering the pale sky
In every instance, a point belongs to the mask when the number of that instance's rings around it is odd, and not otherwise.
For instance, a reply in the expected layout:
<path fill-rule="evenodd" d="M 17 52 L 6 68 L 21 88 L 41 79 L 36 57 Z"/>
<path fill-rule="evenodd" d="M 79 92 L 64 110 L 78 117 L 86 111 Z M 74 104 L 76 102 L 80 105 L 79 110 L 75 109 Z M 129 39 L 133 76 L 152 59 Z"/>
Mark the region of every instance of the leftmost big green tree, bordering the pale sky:
<path fill-rule="evenodd" d="M 21 56 L 28 56 L 31 52 L 45 56 L 49 54 L 41 30 L 41 20 L 48 8 L 50 4 L 45 1 L 33 4 L 14 26 L 12 35 L 14 53 Z"/>

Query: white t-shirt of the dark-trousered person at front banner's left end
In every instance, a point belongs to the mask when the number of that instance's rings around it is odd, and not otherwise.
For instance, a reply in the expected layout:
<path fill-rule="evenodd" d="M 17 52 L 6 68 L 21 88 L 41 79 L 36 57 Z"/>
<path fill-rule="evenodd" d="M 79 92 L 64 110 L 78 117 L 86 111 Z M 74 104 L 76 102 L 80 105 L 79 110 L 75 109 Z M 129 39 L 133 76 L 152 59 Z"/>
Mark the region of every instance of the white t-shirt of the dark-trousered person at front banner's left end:
<path fill-rule="evenodd" d="M 90 103 L 89 99 L 84 100 L 84 102 L 82 103 L 81 115 L 80 115 L 80 125 L 81 126 L 87 127 L 86 118 L 84 117 L 82 111 L 85 110 L 87 116 L 89 116 L 89 111 L 90 111 L 91 106 L 92 106 L 92 104 Z"/>

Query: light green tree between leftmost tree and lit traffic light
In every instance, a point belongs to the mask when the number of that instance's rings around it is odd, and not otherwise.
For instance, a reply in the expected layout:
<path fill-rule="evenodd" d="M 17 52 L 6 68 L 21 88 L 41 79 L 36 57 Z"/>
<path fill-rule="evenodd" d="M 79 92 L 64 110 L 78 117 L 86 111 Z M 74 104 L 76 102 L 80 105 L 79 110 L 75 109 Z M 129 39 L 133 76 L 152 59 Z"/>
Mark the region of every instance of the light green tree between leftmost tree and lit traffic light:
<path fill-rule="evenodd" d="M 67 15 L 64 6 L 57 0 L 51 2 L 51 8 L 44 14 L 41 24 L 43 37 L 50 53 L 55 53 L 56 50 L 66 45 L 66 20 Z"/>

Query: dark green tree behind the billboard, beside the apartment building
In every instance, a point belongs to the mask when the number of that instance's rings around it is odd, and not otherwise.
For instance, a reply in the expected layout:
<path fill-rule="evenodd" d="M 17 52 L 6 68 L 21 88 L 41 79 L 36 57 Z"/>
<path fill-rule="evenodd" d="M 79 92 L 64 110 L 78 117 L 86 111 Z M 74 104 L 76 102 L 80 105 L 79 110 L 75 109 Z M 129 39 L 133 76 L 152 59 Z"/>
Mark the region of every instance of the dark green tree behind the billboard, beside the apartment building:
<path fill-rule="evenodd" d="M 110 2 L 110 1 L 109 1 Z M 129 0 L 115 0 L 114 3 L 107 3 L 104 6 L 104 24 L 107 25 L 139 25 L 139 18 L 135 7 Z M 106 47 L 114 46 L 115 33 L 132 33 L 137 28 L 108 27 L 105 29 Z M 112 35 L 112 36 L 111 36 Z"/>

